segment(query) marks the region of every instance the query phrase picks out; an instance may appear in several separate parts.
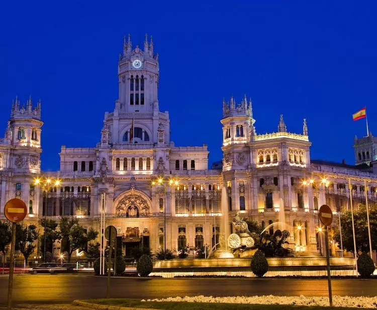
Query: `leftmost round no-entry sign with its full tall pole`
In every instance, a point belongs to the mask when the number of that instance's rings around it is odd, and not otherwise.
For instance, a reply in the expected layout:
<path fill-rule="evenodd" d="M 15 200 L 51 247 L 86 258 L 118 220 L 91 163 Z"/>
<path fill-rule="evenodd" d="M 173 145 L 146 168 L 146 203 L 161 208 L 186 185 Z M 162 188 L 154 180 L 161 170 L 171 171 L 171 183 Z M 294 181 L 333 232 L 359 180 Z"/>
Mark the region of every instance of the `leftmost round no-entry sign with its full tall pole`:
<path fill-rule="evenodd" d="M 13 272 L 15 270 L 16 223 L 25 218 L 27 213 L 26 204 L 21 199 L 13 198 L 5 204 L 4 213 L 5 217 L 12 222 L 11 263 L 8 281 L 8 310 L 10 310 L 12 309 Z"/>

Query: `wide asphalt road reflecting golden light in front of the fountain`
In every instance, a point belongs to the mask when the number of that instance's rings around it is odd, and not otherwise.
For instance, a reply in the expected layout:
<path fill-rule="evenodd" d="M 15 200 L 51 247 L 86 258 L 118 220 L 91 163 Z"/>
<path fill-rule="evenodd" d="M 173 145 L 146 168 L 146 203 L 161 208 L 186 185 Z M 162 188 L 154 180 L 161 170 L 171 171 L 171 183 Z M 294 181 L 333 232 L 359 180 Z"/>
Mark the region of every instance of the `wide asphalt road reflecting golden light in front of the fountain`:
<path fill-rule="evenodd" d="M 23 274 L 13 281 L 15 303 L 71 302 L 106 297 L 107 278 L 93 275 Z M 333 295 L 375 296 L 377 280 L 334 279 Z M 7 302 L 8 276 L 0 276 L 0 304 Z M 307 295 L 327 296 L 326 279 L 190 279 L 112 278 L 111 297 L 157 298 L 186 295 Z"/>

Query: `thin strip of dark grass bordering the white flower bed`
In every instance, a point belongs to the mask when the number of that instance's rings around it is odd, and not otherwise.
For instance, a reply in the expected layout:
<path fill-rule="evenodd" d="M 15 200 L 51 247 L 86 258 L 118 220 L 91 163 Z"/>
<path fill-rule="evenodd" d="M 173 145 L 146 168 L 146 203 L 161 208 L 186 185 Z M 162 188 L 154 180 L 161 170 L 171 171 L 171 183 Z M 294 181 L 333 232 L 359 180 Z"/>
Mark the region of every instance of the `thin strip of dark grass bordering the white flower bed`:
<path fill-rule="evenodd" d="M 151 308 L 161 310 L 329 310 L 334 309 L 322 306 L 295 306 L 276 304 L 239 304 L 239 303 L 210 303 L 210 302 L 157 302 L 140 301 L 140 299 L 87 299 L 81 300 L 90 303 L 117 305 L 135 308 Z M 338 307 L 337 309 L 345 309 Z M 356 308 L 347 308 L 356 309 Z M 357 308 L 360 309 L 360 308 Z"/>

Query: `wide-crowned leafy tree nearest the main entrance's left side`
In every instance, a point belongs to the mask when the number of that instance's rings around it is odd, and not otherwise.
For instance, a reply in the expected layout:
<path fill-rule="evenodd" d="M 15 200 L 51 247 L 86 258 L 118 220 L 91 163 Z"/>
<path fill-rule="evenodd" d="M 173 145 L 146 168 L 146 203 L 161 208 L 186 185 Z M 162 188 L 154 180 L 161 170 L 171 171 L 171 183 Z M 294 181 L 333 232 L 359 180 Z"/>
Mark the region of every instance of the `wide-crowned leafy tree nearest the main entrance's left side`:
<path fill-rule="evenodd" d="M 78 223 L 77 218 L 62 217 L 59 227 L 62 249 L 68 253 L 68 263 L 70 263 L 74 251 L 83 249 L 89 241 L 95 240 L 98 235 L 98 231 L 93 230 L 93 228 L 85 231 L 84 227 Z"/>

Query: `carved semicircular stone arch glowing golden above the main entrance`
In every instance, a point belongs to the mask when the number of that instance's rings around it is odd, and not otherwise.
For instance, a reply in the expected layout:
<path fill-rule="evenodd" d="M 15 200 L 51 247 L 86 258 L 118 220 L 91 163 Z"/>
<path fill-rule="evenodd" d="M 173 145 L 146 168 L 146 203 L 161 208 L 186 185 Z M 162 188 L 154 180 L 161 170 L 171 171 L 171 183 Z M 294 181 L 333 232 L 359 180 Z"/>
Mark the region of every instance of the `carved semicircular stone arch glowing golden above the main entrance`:
<path fill-rule="evenodd" d="M 121 193 L 114 201 L 115 214 L 120 217 L 147 217 L 152 201 L 144 192 L 131 188 Z"/>

